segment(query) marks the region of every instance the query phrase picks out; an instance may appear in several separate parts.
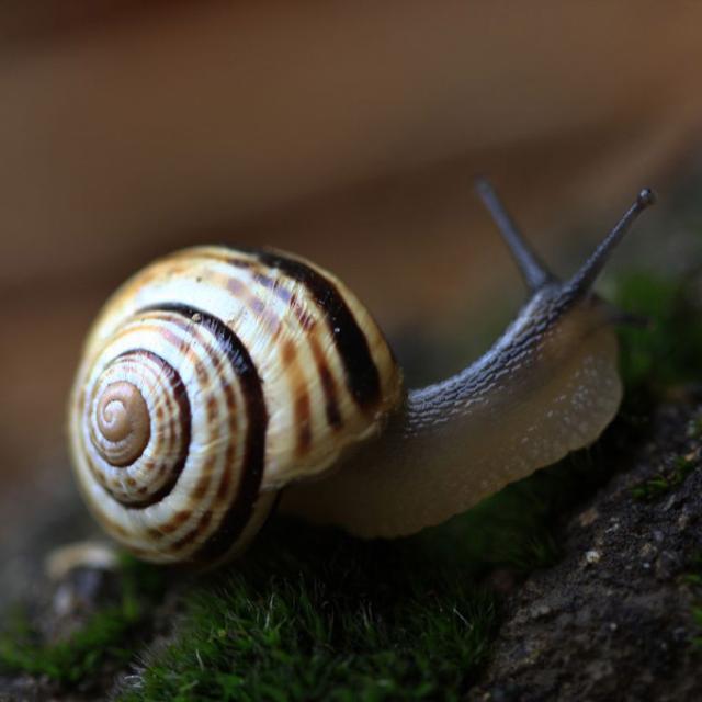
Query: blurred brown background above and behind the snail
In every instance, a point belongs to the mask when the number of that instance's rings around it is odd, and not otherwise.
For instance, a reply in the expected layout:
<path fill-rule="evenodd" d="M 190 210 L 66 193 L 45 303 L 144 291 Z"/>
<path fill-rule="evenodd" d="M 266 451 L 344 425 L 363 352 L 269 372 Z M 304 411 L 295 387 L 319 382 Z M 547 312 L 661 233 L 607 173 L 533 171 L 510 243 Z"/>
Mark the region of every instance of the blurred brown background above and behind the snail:
<path fill-rule="evenodd" d="M 0 471 L 69 479 L 86 329 L 180 246 L 304 253 L 439 348 L 519 301 L 473 178 L 573 267 L 699 160 L 701 65 L 700 3 L 2 3 Z"/>

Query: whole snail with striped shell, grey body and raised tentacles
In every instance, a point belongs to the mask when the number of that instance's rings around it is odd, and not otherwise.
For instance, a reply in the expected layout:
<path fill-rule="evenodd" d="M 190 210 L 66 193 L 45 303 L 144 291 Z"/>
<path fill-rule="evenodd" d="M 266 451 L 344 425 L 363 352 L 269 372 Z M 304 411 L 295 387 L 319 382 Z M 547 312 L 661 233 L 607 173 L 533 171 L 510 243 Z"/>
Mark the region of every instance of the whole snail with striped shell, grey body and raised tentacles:
<path fill-rule="evenodd" d="M 592 285 L 642 190 L 558 280 L 478 182 L 529 298 L 480 359 L 406 390 L 382 331 L 335 275 L 276 250 L 196 247 L 106 303 L 70 397 L 80 490 L 158 563 L 218 564 L 274 506 L 362 537 L 411 534 L 592 443 L 622 396 L 616 310 Z"/>

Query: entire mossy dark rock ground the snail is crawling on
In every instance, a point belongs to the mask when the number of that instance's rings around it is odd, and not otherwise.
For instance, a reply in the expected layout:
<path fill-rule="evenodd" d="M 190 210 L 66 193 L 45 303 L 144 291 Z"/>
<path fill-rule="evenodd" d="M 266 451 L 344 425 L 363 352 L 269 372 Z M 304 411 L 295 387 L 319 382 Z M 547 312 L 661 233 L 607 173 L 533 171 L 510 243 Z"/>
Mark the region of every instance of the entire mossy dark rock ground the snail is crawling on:
<path fill-rule="evenodd" d="M 18 509 L 0 700 L 702 699 L 702 279 L 682 268 L 610 285 L 652 324 L 622 330 L 602 439 L 418 536 L 273 519 L 215 574 L 125 558 L 48 581 L 84 510 Z"/>

